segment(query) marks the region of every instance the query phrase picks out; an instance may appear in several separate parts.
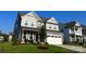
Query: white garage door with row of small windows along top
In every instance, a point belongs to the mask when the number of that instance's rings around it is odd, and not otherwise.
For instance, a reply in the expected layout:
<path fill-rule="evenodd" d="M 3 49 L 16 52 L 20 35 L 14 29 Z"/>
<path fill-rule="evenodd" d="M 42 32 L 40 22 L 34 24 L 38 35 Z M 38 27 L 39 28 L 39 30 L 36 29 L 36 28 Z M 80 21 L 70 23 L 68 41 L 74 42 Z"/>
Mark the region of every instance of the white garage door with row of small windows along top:
<path fill-rule="evenodd" d="M 62 36 L 48 36 L 47 37 L 47 42 L 49 44 L 62 44 Z"/>

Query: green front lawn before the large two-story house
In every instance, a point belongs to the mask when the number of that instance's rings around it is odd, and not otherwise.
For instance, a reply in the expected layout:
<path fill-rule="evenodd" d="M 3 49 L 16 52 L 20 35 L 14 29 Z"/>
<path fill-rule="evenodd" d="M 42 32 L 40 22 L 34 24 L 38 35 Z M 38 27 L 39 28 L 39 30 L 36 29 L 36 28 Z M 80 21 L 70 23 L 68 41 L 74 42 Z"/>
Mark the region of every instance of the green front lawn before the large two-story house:
<path fill-rule="evenodd" d="M 1 53 L 72 53 L 71 51 L 64 48 L 49 46 L 48 49 L 42 50 L 37 48 L 38 44 L 16 44 L 12 46 L 12 42 L 0 43 Z"/>

